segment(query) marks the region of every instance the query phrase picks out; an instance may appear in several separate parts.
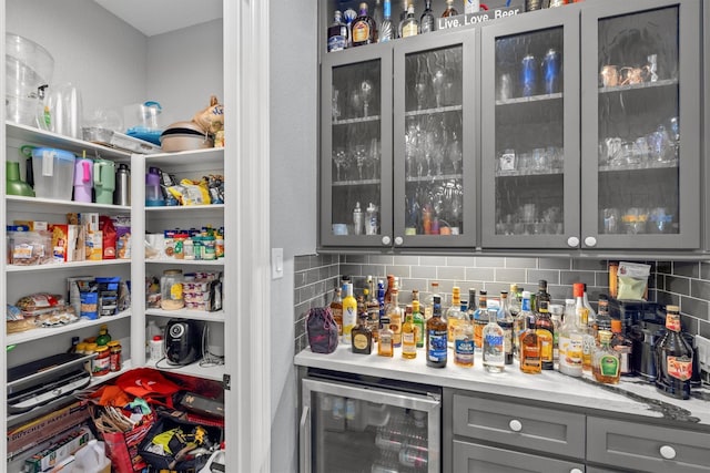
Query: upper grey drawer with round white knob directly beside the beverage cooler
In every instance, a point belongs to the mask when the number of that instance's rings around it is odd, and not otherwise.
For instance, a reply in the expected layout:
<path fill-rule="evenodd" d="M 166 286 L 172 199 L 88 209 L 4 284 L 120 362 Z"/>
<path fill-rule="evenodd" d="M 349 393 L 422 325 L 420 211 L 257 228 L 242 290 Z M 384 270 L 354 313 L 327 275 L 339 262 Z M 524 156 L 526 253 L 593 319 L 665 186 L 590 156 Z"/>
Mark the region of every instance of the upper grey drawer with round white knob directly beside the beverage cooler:
<path fill-rule="evenodd" d="M 585 457 L 585 415 L 454 394 L 454 434 Z"/>

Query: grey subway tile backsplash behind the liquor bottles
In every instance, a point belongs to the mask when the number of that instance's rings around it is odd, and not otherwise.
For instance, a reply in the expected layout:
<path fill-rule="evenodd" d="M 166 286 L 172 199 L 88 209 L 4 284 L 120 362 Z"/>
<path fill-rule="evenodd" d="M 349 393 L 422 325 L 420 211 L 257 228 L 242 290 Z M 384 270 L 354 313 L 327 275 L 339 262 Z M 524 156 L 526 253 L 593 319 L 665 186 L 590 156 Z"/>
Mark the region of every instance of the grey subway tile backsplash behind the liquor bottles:
<path fill-rule="evenodd" d="M 677 304 L 683 327 L 691 333 L 710 338 L 710 263 L 643 261 L 651 265 L 649 299 L 660 304 Z M 526 290 L 537 290 L 539 279 L 548 281 L 555 302 L 572 295 L 574 282 L 586 282 L 589 298 L 595 302 L 609 290 L 607 260 L 575 258 L 524 258 L 486 256 L 398 256 L 398 255 L 307 255 L 295 258 L 294 323 L 296 352 L 307 346 L 304 320 L 310 308 L 329 304 L 341 275 L 352 277 L 356 288 L 365 286 L 372 275 L 386 279 L 399 277 L 405 291 L 400 300 L 408 300 L 407 291 L 418 289 L 426 297 L 432 281 L 450 301 L 454 286 L 468 295 L 468 288 L 487 290 L 498 296 L 515 282 Z"/>

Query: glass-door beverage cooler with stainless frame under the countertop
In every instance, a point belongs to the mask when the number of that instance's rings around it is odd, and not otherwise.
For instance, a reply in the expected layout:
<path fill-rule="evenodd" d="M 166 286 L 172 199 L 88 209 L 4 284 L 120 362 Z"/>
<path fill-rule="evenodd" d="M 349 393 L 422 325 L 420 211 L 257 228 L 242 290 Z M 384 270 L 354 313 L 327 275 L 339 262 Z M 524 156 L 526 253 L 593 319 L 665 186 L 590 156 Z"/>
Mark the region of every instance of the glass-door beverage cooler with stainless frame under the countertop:
<path fill-rule="evenodd" d="M 302 381 L 301 473 L 439 472 L 442 389 L 311 369 Z"/>

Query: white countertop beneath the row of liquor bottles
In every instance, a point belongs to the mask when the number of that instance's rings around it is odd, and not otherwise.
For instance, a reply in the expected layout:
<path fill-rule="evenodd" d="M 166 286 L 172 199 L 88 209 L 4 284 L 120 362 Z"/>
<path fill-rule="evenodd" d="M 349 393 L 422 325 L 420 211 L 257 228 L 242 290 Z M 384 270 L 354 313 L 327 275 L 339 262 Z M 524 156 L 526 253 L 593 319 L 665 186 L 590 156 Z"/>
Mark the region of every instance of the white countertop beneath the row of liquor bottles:
<path fill-rule="evenodd" d="M 605 385 L 596 383 L 591 374 L 587 373 L 581 379 L 567 377 L 557 371 L 526 374 L 518 369 L 517 361 L 506 366 L 503 373 L 489 373 L 484 369 L 479 354 L 476 356 L 473 368 L 458 367 L 450 359 L 446 368 L 430 368 L 426 366 L 424 353 L 424 349 L 418 349 L 417 357 L 407 360 L 396 350 L 394 358 L 386 358 L 378 357 L 375 352 L 355 354 L 349 346 L 341 345 L 329 354 L 314 353 L 306 348 L 296 354 L 294 363 L 590 410 L 710 425 L 710 390 L 707 388 L 693 390 L 699 395 L 683 401 L 658 392 L 652 383 L 639 378 L 622 379 L 619 384 Z"/>

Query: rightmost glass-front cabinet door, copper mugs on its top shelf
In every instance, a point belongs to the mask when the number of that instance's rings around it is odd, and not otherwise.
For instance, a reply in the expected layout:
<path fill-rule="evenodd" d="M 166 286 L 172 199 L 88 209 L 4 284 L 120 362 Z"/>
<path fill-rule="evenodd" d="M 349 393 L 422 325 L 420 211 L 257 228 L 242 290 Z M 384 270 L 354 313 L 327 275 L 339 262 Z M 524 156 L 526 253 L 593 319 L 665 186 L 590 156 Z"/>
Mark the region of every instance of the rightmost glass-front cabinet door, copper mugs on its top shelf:
<path fill-rule="evenodd" d="M 700 21 L 698 0 L 582 11 L 582 247 L 699 247 Z"/>

